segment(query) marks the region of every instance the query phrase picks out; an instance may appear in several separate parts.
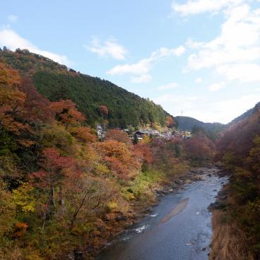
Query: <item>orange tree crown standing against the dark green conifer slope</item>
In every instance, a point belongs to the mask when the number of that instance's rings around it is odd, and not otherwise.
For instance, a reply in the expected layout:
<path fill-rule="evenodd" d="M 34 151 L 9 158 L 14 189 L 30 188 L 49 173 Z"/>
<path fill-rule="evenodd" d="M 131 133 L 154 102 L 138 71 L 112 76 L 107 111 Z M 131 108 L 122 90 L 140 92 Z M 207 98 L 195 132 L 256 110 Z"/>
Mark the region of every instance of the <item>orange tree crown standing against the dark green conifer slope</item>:
<path fill-rule="evenodd" d="M 78 125 L 85 121 L 85 117 L 81 112 L 78 112 L 75 103 L 71 100 L 52 102 L 50 107 L 56 113 L 57 120 L 63 124 Z"/>

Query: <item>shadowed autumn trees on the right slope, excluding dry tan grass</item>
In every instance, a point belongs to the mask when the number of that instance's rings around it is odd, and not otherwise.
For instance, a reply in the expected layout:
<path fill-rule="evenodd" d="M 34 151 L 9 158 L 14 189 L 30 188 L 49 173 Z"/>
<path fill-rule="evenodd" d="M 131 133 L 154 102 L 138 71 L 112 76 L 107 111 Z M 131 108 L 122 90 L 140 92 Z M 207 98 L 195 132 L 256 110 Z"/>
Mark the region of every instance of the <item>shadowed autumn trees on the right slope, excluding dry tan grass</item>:
<path fill-rule="evenodd" d="M 259 118 L 259 105 L 256 105 L 249 117 L 230 126 L 217 143 L 218 158 L 223 160 L 227 170 L 232 173 L 227 187 L 229 205 L 222 214 L 235 224 L 246 242 L 241 237 L 231 239 L 241 243 L 240 247 L 252 259 L 260 257 Z"/>

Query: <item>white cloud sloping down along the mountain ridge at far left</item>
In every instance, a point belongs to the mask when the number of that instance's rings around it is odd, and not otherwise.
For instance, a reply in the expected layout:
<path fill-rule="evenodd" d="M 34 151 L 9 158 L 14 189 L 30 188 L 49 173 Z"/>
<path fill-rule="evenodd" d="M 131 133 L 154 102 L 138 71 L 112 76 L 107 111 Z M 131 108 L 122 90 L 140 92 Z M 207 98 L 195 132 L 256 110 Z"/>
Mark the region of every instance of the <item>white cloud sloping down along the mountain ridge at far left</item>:
<path fill-rule="evenodd" d="M 53 52 L 47 52 L 45 50 L 39 49 L 35 45 L 32 45 L 31 42 L 20 37 L 15 31 L 10 28 L 4 28 L 0 30 L 0 46 L 6 46 L 8 49 L 12 51 L 20 48 L 20 49 L 28 49 L 30 52 L 34 52 L 40 54 L 42 56 L 48 57 L 49 59 L 53 59 L 54 61 L 59 62 L 60 64 L 69 65 L 71 62 L 64 55 L 59 55 Z"/>

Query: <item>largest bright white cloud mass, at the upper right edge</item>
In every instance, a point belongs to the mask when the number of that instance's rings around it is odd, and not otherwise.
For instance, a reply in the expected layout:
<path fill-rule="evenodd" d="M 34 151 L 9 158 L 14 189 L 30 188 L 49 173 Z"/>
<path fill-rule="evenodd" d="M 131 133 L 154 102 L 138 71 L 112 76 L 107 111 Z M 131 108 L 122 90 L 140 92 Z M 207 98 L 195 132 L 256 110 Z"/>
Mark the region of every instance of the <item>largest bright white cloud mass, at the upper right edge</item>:
<path fill-rule="evenodd" d="M 188 70 L 214 69 L 228 81 L 259 81 L 260 9 L 242 4 L 225 11 L 227 20 L 218 37 L 210 42 L 192 42 L 197 49 L 188 57 Z"/>

